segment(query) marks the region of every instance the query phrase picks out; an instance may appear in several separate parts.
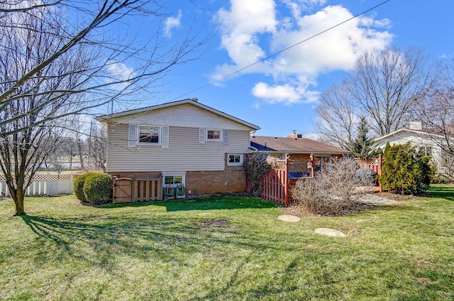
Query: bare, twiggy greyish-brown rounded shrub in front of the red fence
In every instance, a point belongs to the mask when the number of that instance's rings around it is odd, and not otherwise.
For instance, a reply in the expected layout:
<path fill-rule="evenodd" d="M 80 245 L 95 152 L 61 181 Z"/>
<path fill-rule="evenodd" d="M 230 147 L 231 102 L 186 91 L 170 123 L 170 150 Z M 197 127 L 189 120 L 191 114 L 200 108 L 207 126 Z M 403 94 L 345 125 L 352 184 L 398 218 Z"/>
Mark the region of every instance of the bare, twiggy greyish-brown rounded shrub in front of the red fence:
<path fill-rule="evenodd" d="M 355 160 L 343 158 L 328 163 L 314 178 L 298 180 L 292 195 L 312 213 L 339 215 L 355 204 L 358 187 L 372 186 L 374 180 L 370 174 L 358 173 Z"/>

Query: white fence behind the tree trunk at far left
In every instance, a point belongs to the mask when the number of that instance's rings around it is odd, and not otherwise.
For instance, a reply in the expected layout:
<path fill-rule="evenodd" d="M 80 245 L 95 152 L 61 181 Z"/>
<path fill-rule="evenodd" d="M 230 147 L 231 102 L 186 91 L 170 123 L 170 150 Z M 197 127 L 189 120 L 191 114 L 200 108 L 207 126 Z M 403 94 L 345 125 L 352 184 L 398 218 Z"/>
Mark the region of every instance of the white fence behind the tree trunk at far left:
<path fill-rule="evenodd" d="M 79 175 L 35 175 L 31 185 L 26 190 L 26 195 L 70 195 L 73 192 L 72 182 Z M 0 175 L 0 196 L 9 197 L 10 193 L 6 187 L 6 178 Z"/>

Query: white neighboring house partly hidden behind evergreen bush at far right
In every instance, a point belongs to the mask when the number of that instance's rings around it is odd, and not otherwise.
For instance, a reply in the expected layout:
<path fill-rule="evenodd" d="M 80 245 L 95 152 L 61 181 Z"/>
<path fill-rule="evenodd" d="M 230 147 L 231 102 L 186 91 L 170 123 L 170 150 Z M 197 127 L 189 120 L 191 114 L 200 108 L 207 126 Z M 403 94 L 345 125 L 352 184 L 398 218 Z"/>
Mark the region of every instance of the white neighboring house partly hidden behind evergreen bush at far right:
<path fill-rule="evenodd" d="M 449 155 L 441 148 L 443 136 L 439 136 L 433 131 L 423 129 L 421 123 L 411 122 L 409 128 L 400 128 L 397 131 L 381 136 L 374 140 L 373 149 L 381 148 L 384 150 L 387 142 L 391 146 L 394 144 L 410 143 L 416 151 L 423 152 L 424 155 L 431 155 L 433 165 L 438 173 L 448 174 L 453 172 L 453 156 Z"/>

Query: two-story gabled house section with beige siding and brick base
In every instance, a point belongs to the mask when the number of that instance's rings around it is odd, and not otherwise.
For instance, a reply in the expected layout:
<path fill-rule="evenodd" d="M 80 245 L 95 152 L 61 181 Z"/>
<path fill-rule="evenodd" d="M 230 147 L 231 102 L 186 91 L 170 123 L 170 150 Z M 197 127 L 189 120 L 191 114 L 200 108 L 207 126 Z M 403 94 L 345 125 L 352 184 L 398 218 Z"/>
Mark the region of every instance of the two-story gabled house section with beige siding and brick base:
<path fill-rule="evenodd" d="M 184 195 L 243 192 L 243 159 L 250 132 L 259 129 L 234 116 L 184 99 L 96 118 L 107 125 L 107 173 L 162 177 L 163 187 Z"/>

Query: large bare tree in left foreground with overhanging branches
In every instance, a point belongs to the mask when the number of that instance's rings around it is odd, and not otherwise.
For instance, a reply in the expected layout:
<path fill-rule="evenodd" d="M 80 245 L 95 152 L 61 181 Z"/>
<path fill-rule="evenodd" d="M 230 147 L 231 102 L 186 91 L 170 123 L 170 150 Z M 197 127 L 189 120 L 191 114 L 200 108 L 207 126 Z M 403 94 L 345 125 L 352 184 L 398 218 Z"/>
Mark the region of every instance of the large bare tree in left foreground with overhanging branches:
<path fill-rule="evenodd" d="M 26 187 L 70 116 L 135 99 L 201 45 L 189 35 L 166 45 L 159 24 L 145 43 L 112 38 L 112 26 L 136 14 L 159 23 L 157 0 L 47 4 L 0 2 L 0 166 L 16 215 L 25 214 Z"/>

